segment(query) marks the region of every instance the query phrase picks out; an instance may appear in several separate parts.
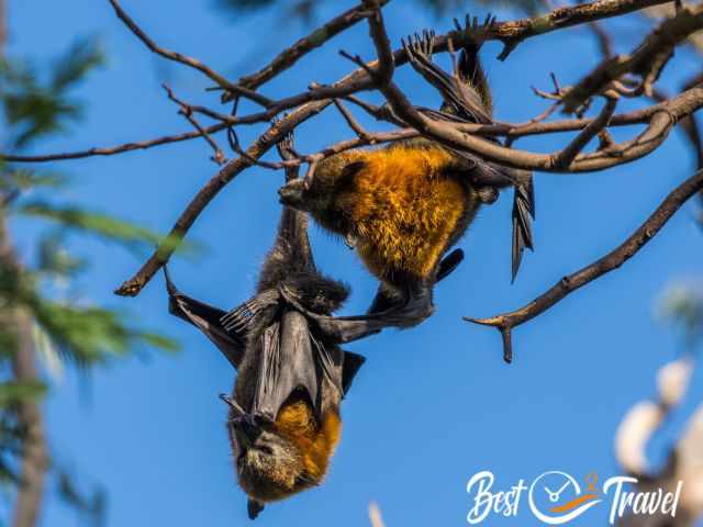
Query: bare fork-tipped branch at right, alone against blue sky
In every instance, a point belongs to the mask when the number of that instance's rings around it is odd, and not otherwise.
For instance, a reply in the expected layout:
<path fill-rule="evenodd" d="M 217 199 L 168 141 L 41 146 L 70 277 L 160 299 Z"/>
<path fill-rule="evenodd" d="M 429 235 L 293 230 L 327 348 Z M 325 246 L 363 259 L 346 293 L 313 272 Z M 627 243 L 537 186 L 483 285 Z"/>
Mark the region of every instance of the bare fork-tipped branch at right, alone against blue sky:
<path fill-rule="evenodd" d="M 510 362 L 513 356 L 510 338 L 513 328 L 540 315 L 577 289 L 621 267 L 654 238 L 671 216 L 701 189 L 703 189 L 703 170 L 699 170 L 677 187 L 632 236 L 600 260 L 563 277 L 548 291 L 518 310 L 490 318 L 465 317 L 465 321 L 498 328 L 503 335 L 503 357 L 506 362 Z"/>

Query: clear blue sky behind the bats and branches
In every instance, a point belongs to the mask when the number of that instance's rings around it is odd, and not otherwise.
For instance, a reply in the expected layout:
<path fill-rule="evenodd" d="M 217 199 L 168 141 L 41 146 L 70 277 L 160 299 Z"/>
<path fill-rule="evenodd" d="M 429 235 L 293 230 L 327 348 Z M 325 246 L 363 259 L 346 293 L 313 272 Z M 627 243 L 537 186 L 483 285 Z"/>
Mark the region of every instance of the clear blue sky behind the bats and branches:
<path fill-rule="evenodd" d="M 202 91 L 207 79 L 150 55 L 116 20 L 107 0 L 9 3 L 10 53 L 49 60 L 76 35 L 94 34 L 109 57 L 108 66 L 76 91 L 87 101 L 85 121 L 66 136 L 42 144 L 43 152 L 189 130 L 166 99 L 164 81 L 188 101 L 216 104 L 214 96 Z M 334 3 L 336 9 L 350 5 Z M 161 45 L 199 57 L 233 78 L 253 71 L 306 31 L 280 13 L 227 19 L 209 1 L 124 0 L 123 5 Z M 484 14 L 484 8 L 476 9 Z M 510 15 L 498 14 L 501 20 Z M 395 46 L 408 33 L 450 26 L 450 18 L 436 20 L 408 1 L 393 2 L 386 20 Z M 628 51 L 644 25 L 629 15 L 615 27 L 622 31 L 623 51 Z M 338 57 L 339 48 L 372 57 L 367 27 L 361 24 L 305 57 L 263 92 L 282 97 L 305 89 L 312 80 L 337 79 L 352 67 Z M 582 29 L 531 40 L 505 63 L 494 59 L 499 51 L 490 43 L 484 59 L 496 117 L 513 122 L 544 110 L 545 101 L 529 87 L 548 89 L 549 71 L 568 85 L 599 60 L 592 35 Z M 692 64 L 692 57 L 679 54 L 668 70 L 674 80 L 671 89 Z M 397 74 L 401 87 L 417 104 L 436 105 L 436 93 L 406 69 Z M 376 96 L 370 99 L 378 101 Z M 622 105 L 627 108 L 632 104 Z M 362 115 L 359 119 L 373 126 Z M 243 128 L 241 138 L 248 143 L 261 130 Z M 633 133 L 634 128 L 622 131 L 618 136 Z M 313 152 L 348 136 L 342 120 L 328 110 L 300 128 L 297 144 Z M 550 152 L 563 139 L 540 137 L 517 145 Z M 63 199 L 164 232 L 215 172 L 210 155 L 204 142 L 193 141 L 51 168 L 76 178 Z M 420 327 L 349 346 L 368 361 L 344 404 L 344 436 L 326 483 L 267 507 L 258 525 L 368 525 L 368 503 L 377 501 L 389 527 L 460 526 L 470 508 L 466 484 L 479 470 L 491 470 L 496 485 L 505 487 L 548 470 L 570 472 L 580 481 L 592 471 L 603 479 L 618 473 L 615 429 L 635 402 L 654 394 L 656 370 L 680 350 L 676 335 L 652 313 L 667 285 L 700 273 L 701 233 L 692 222 L 692 205 L 621 270 L 517 328 L 512 366 L 502 362 L 495 330 L 469 326 L 460 317 L 522 306 L 563 274 L 611 250 L 692 170 L 692 156 L 673 133 L 648 158 L 617 169 L 536 175 L 537 251 L 527 254 L 514 285 L 509 193 L 483 210 L 459 244 L 467 254 L 465 262 L 436 289 L 436 314 Z M 171 264 L 182 290 L 223 307 L 249 295 L 275 233 L 280 212 L 276 189 L 281 181 L 281 173 L 253 169 L 212 202 L 189 233 L 209 247 L 207 255 L 197 260 L 177 257 Z M 34 231 L 18 228 L 20 251 L 27 253 Z M 345 313 L 364 311 L 375 281 L 344 244 L 316 227 L 312 238 L 320 267 L 354 289 Z M 138 258 L 89 239 L 75 246 L 92 259 L 81 284 L 90 298 L 131 310 L 144 325 L 181 340 L 183 350 L 176 357 L 147 352 L 146 358 L 94 371 L 89 382 L 68 373 L 56 383 L 46 414 L 57 461 L 109 491 L 109 526 L 248 524 L 245 496 L 235 484 L 225 408 L 216 397 L 230 390 L 232 369 L 193 328 L 167 314 L 160 277 L 136 299 L 112 295 L 138 268 Z M 655 459 L 661 458 L 662 448 L 700 400 L 700 377 L 694 378 L 688 402 L 652 445 Z M 595 508 L 571 525 L 605 520 L 606 509 Z M 42 525 L 76 522 L 71 512 L 48 500 Z M 524 509 L 517 522 L 493 518 L 490 525 L 531 522 L 535 520 Z"/>

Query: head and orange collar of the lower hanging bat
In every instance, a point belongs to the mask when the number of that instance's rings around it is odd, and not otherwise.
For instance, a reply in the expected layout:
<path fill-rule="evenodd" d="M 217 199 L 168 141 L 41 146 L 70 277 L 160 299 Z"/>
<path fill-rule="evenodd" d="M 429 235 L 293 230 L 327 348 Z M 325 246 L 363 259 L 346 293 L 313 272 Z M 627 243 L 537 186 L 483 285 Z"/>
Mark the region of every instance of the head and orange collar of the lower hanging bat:
<path fill-rule="evenodd" d="M 341 419 L 335 410 L 317 423 L 305 397 L 294 393 L 275 423 L 255 418 L 230 426 L 237 479 L 249 496 L 249 516 L 263 504 L 283 500 L 319 485 L 339 440 Z M 256 516 L 254 514 L 254 516 Z"/>

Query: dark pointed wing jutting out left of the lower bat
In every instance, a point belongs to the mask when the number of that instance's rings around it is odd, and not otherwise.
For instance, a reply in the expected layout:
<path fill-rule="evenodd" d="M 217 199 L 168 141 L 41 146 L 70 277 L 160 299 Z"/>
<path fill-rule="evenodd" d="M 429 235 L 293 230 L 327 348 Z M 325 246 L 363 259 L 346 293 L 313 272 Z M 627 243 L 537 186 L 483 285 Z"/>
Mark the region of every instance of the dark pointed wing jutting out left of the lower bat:
<path fill-rule="evenodd" d="M 220 319 L 225 312 L 205 304 L 178 291 L 170 279 L 166 266 L 166 290 L 168 291 L 168 311 L 200 329 L 225 356 L 225 358 L 238 368 L 244 357 L 246 347 L 246 334 L 241 332 L 227 332 Z"/>

